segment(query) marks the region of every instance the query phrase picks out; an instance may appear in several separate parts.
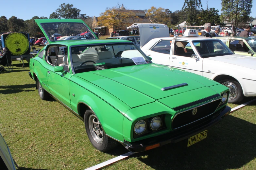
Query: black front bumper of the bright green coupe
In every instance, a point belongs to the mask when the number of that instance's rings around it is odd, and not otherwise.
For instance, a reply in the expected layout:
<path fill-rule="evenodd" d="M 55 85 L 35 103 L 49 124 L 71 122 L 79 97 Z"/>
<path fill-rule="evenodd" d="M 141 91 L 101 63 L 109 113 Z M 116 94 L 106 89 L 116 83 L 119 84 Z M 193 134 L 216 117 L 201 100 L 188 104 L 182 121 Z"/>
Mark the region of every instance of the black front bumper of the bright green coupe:
<path fill-rule="evenodd" d="M 217 124 L 220 120 L 223 119 L 223 117 L 230 113 L 231 108 L 229 106 L 225 106 L 220 111 L 215 112 L 214 114 L 199 120 L 195 123 L 192 123 L 190 125 L 187 125 L 183 128 L 173 130 L 167 134 L 143 139 L 136 142 L 128 142 L 124 141 L 123 146 L 132 152 L 142 152 L 147 147 L 152 146 L 151 148 L 155 148 L 154 146 L 163 146 L 168 143 L 177 143 L 181 140 L 187 139 L 191 136 L 194 136 L 209 127 Z"/>

